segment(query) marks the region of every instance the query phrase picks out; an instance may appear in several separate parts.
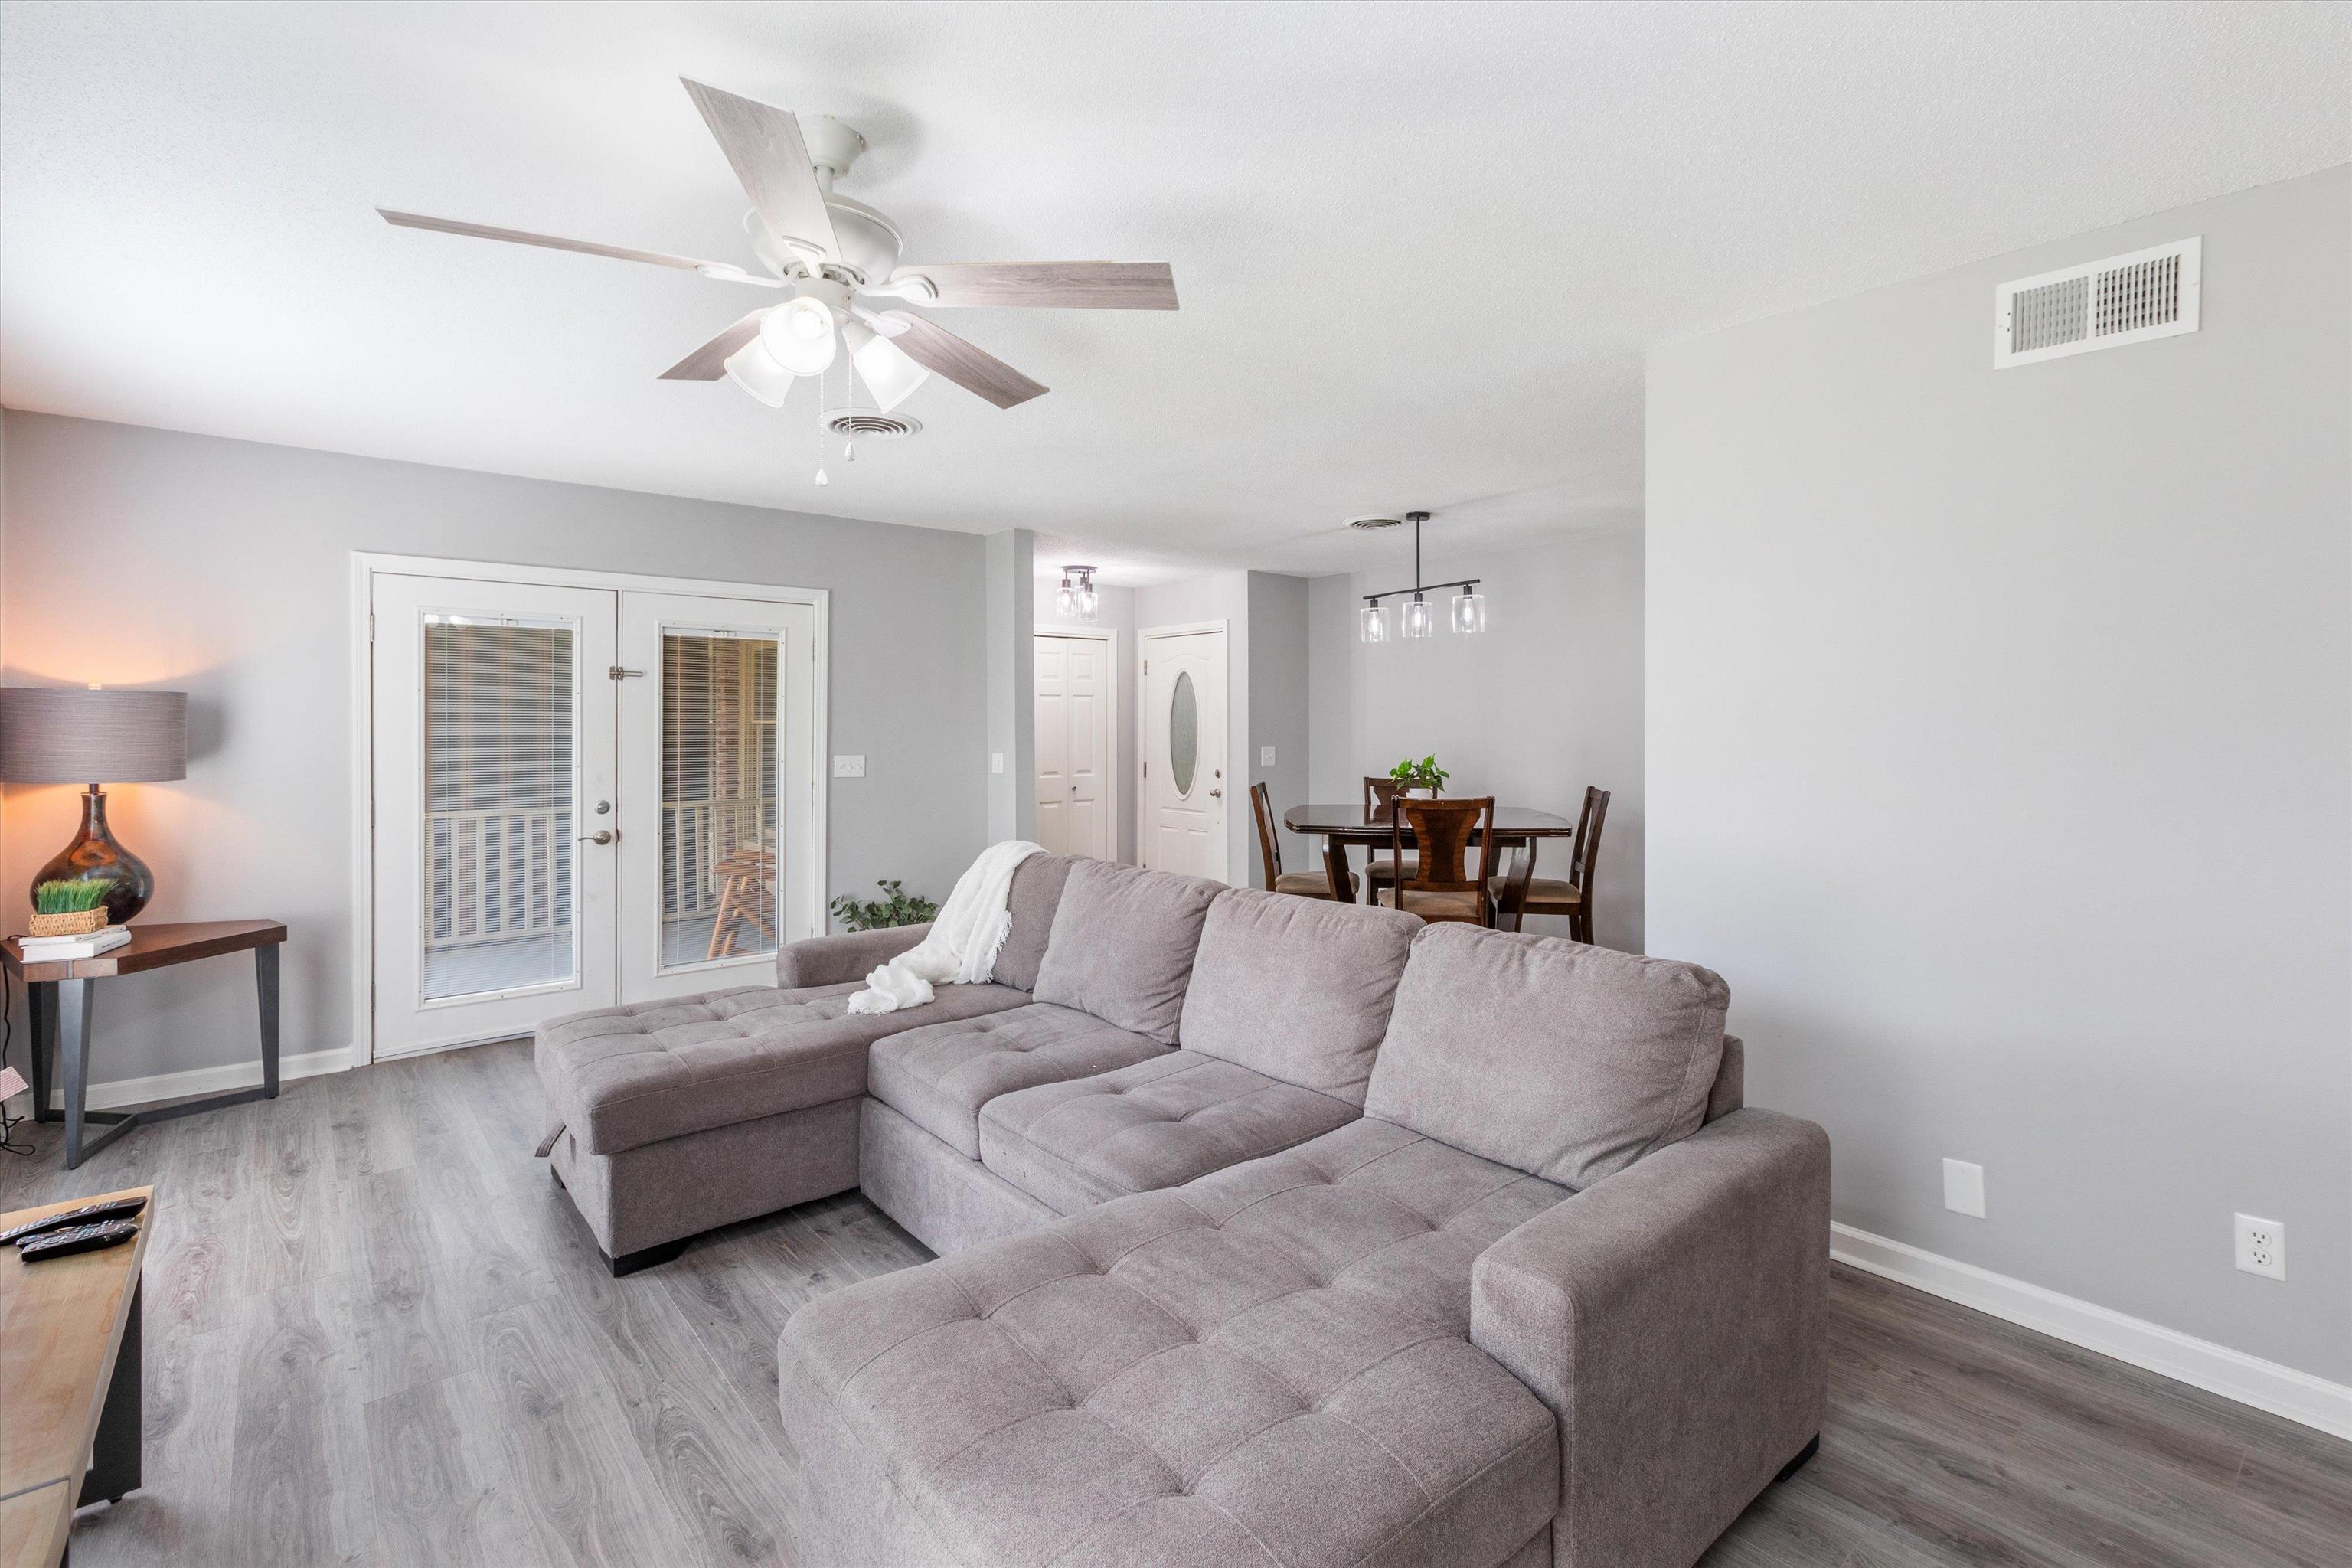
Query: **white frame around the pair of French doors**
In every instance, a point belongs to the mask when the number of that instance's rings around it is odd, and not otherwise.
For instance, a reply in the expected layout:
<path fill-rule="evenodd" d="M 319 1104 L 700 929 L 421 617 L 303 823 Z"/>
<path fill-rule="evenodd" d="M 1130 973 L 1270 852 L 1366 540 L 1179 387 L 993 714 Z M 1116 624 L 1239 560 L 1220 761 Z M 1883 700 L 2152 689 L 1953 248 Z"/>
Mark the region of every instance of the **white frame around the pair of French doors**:
<path fill-rule="evenodd" d="M 809 929 L 826 929 L 826 889 L 830 877 L 833 832 L 828 806 L 833 785 L 826 757 L 833 755 L 830 663 L 833 663 L 833 592 L 826 588 L 786 588 L 781 583 L 720 583 L 713 578 L 673 578 L 640 571 L 574 571 L 572 567 L 524 567 L 520 562 L 463 562 L 440 555 L 350 552 L 350 1063 L 376 1060 L 376 724 L 374 724 L 374 639 L 372 604 L 376 576 L 442 576 L 477 583 L 539 583 L 548 588 L 612 588 L 616 592 L 675 592 L 706 599 L 762 599 L 771 604 L 807 604 L 816 611 L 814 684 L 816 701 L 816 799 L 809 806 L 809 842 L 816 846 L 816 875 L 809 879 Z"/>

